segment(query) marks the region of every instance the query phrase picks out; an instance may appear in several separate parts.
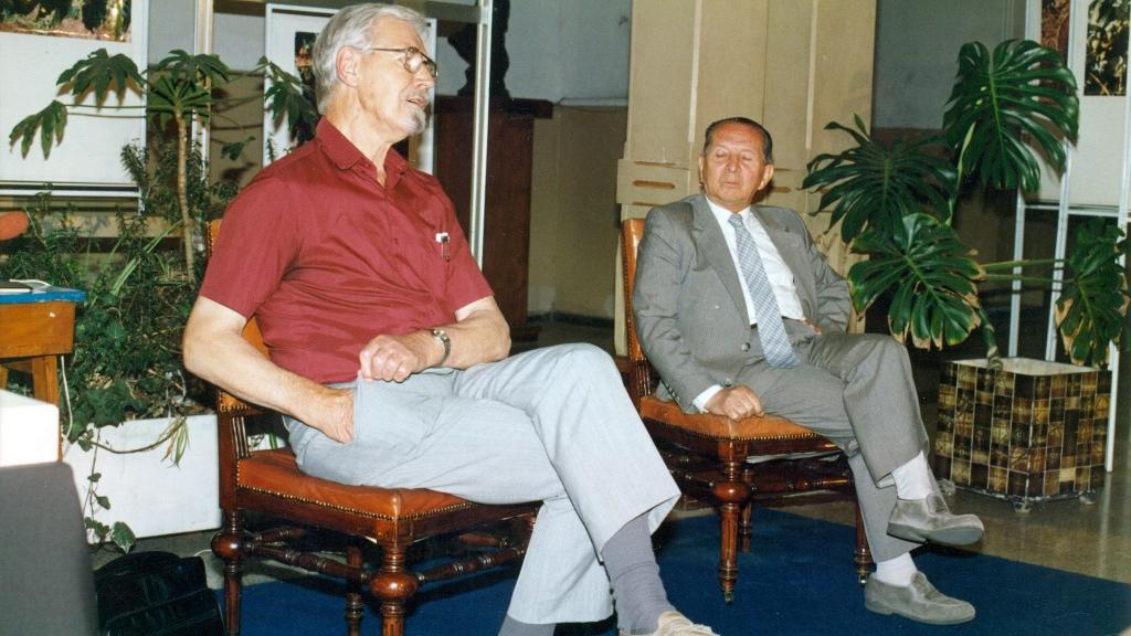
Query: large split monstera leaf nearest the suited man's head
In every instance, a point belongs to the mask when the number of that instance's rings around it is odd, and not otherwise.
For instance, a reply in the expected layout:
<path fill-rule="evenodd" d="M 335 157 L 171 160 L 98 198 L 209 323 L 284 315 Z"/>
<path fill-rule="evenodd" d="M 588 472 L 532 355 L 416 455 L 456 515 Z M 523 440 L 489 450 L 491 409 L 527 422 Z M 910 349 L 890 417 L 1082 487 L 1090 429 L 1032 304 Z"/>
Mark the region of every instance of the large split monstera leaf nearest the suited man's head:
<path fill-rule="evenodd" d="M 891 233 L 904 216 L 924 208 L 948 218 L 955 169 L 929 152 L 941 140 L 932 137 L 886 146 L 869 136 L 860 115 L 855 121 L 858 131 L 837 122 L 824 127 L 847 132 L 856 145 L 837 155 L 814 157 L 802 182 L 803 188 L 822 189 L 820 207 L 831 207 L 832 213 L 829 226 L 841 222 L 840 237 L 848 242 L 873 225 Z"/>

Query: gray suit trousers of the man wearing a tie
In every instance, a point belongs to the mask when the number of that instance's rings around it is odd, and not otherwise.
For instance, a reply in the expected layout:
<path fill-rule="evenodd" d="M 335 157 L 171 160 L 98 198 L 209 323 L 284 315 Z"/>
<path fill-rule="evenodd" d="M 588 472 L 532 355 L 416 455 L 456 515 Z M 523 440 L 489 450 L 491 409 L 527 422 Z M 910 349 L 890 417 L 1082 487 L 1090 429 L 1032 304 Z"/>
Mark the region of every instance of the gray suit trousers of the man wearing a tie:
<path fill-rule="evenodd" d="M 752 338 L 757 343 L 757 335 Z M 800 364 L 777 369 L 758 355 L 739 381 L 769 413 L 845 449 L 875 560 L 916 547 L 887 533 L 896 505 L 891 471 L 927 449 L 907 350 L 890 336 L 829 333 L 794 343 Z M 878 484 L 883 484 L 881 488 Z"/>

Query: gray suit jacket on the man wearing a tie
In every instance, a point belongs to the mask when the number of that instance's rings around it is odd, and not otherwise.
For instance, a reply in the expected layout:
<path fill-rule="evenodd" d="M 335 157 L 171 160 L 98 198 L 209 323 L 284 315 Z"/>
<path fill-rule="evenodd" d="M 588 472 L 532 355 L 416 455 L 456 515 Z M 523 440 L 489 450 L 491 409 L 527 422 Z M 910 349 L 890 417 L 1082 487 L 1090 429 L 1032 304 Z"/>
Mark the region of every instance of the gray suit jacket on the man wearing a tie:
<path fill-rule="evenodd" d="M 793 270 L 805 319 L 824 332 L 844 332 L 852 309 L 848 285 L 813 244 L 796 212 L 754 206 L 778 252 Z M 714 385 L 735 383 L 761 359 L 750 328 L 739 270 L 703 195 L 648 213 L 632 295 L 637 335 L 659 371 L 661 397 L 685 412 Z M 805 325 L 786 321 L 794 342 L 813 337 Z"/>

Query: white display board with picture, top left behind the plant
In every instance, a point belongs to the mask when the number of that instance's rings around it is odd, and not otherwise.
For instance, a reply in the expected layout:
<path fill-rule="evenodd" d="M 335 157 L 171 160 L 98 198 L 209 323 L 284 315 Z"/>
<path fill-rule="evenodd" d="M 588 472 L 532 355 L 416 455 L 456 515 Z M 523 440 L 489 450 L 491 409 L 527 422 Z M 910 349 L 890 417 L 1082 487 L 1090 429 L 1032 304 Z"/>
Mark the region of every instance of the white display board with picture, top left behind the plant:
<path fill-rule="evenodd" d="M 0 15 L 0 132 L 5 141 L 17 123 L 52 100 L 69 105 L 71 98 L 59 95 L 55 78 L 98 49 L 129 55 L 139 69 L 147 65 L 145 0 L 88 0 L 87 10 L 69 12 L 59 2 L 16 3 L 16 8 L 24 6 L 34 12 Z M 100 111 L 87 96 L 71 109 L 66 132 L 50 155 L 38 143 L 26 156 L 18 143 L 3 144 L 0 194 L 31 195 L 45 183 L 70 196 L 135 194 L 119 156 L 126 144 L 145 139 L 145 102 L 129 92 L 121 103 L 116 96 L 109 101 L 114 108 Z"/>

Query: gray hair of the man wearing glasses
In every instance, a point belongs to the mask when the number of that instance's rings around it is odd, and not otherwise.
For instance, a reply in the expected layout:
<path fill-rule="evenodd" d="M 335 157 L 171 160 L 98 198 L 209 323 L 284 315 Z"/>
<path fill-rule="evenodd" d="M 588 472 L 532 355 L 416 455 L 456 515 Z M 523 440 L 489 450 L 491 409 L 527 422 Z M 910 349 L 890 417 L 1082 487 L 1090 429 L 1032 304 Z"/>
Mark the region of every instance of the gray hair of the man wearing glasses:
<path fill-rule="evenodd" d="M 354 5 L 346 7 L 330 18 L 322 32 L 314 40 L 314 49 L 311 52 L 314 66 L 314 81 L 317 84 L 318 112 L 326 112 L 326 106 L 330 103 L 330 96 L 337 89 L 338 51 L 345 46 L 364 49 L 370 46 L 370 31 L 381 18 L 396 18 L 404 20 L 416 28 L 421 40 L 428 35 L 428 23 L 424 16 L 399 5 Z"/>

